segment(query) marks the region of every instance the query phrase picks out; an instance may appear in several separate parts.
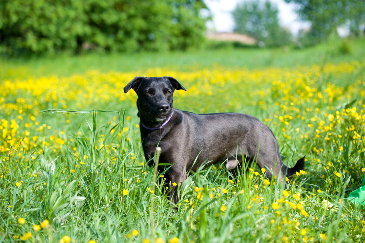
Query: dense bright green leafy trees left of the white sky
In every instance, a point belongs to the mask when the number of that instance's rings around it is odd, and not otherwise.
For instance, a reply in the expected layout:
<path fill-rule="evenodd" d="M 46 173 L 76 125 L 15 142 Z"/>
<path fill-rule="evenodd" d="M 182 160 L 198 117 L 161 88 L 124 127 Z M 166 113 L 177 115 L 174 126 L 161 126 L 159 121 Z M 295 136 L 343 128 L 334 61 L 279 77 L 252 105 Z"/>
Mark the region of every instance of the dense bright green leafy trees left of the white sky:
<path fill-rule="evenodd" d="M 204 40 L 202 0 L 0 0 L 0 52 L 184 50 Z"/>

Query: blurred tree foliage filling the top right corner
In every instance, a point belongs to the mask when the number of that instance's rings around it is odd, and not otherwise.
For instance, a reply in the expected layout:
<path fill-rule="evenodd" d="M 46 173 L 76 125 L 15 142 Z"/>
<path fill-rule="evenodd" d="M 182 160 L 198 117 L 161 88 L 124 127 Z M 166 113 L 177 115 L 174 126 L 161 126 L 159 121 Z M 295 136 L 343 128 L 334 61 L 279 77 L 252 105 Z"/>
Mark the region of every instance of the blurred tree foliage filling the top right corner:
<path fill-rule="evenodd" d="M 285 0 L 299 5 L 300 18 L 310 21 L 313 38 L 326 39 L 336 34 L 337 27 L 345 24 L 354 35 L 360 35 L 365 24 L 364 0 Z"/>

